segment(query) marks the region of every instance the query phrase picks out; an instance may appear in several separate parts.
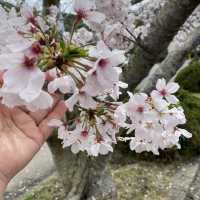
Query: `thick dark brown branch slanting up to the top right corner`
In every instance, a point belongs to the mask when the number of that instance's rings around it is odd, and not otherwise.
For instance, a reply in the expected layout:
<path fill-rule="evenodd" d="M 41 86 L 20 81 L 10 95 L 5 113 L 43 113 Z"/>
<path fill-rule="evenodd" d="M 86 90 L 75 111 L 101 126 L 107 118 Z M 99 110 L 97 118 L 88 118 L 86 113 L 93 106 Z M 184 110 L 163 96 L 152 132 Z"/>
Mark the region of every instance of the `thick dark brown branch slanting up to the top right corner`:
<path fill-rule="evenodd" d="M 155 16 L 148 35 L 141 41 L 143 49 L 137 47 L 132 52 L 124 79 L 133 89 L 144 78 L 151 67 L 162 61 L 162 53 L 186 19 L 198 6 L 200 0 L 169 0 Z"/>

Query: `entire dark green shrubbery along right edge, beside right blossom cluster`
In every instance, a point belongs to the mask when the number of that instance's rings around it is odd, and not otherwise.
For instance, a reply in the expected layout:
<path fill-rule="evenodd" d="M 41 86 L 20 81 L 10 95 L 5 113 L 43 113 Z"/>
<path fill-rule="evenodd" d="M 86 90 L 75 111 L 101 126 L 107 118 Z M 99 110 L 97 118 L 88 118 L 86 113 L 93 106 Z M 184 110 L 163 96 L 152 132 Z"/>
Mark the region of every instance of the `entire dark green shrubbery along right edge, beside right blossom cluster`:
<path fill-rule="evenodd" d="M 185 110 L 187 123 L 184 125 L 193 134 L 191 140 L 182 138 L 183 154 L 195 155 L 200 153 L 200 60 L 179 72 L 176 82 L 181 85 L 178 97 Z"/>

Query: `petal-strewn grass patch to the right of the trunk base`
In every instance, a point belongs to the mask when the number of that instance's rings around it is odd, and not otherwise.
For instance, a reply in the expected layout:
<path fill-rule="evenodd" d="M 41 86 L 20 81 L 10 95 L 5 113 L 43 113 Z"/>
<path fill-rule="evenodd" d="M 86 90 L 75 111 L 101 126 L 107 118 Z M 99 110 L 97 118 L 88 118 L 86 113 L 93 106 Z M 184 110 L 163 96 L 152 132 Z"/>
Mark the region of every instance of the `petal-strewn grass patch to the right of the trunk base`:
<path fill-rule="evenodd" d="M 168 166 L 151 162 L 138 162 L 112 170 L 118 200 L 167 200 L 172 171 Z"/>

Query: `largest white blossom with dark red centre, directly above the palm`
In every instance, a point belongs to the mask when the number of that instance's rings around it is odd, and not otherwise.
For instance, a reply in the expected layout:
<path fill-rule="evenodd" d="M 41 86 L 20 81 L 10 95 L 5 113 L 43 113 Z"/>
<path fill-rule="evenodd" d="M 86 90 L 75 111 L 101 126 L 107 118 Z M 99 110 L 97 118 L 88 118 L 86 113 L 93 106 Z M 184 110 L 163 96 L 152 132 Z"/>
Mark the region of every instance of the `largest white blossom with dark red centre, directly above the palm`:
<path fill-rule="evenodd" d="M 22 101 L 30 103 L 41 95 L 45 75 L 35 66 L 34 57 L 28 57 L 21 53 L 2 54 L 0 55 L 0 65 L 2 66 L 1 70 L 6 70 L 3 74 L 4 82 L 0 91 L 7 100 L 13 94 Z"/>

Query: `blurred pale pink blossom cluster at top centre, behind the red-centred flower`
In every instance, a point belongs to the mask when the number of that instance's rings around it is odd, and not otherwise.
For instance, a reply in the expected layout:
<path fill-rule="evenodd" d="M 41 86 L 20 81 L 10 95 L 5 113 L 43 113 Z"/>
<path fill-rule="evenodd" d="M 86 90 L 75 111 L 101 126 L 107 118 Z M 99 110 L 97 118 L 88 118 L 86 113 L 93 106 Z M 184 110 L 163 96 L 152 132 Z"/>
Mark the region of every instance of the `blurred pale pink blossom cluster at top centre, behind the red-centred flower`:
<path fill-rule="evenodd" d="M 97 10 L 104 13 L 105 20 L 101 25 L 90 23 L 89 26 L 111 48 L 127 50 L 132 45 L 132 35 L 129 33 L 133 24 L 130 13 L 130 0 L 95 0 Z M 99 34 L 100 33 L 100 34 Z"/>

